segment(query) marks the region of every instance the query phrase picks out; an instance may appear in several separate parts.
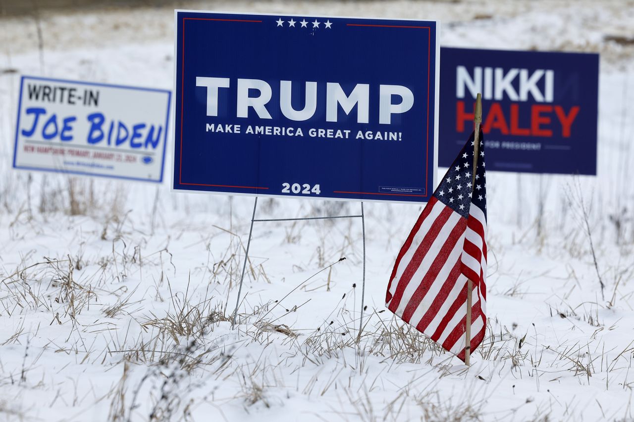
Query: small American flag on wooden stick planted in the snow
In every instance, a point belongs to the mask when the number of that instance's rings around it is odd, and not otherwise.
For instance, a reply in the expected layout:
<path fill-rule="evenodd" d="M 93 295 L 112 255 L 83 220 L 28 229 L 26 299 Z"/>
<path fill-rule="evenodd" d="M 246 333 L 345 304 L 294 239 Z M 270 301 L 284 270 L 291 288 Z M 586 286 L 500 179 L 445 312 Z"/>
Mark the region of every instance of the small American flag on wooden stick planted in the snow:
<path fill-rule="evenodd" d="M 474 134 L 418 217 L 387 285 L 386 306 L 465 360 L 467 280 L 471 279 L 471 352 L 486 329 L 486 176 L 484 139 L 473 180 Z"/>

